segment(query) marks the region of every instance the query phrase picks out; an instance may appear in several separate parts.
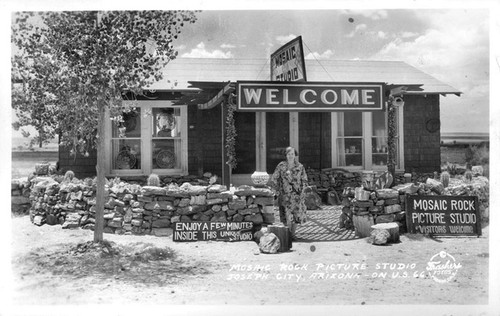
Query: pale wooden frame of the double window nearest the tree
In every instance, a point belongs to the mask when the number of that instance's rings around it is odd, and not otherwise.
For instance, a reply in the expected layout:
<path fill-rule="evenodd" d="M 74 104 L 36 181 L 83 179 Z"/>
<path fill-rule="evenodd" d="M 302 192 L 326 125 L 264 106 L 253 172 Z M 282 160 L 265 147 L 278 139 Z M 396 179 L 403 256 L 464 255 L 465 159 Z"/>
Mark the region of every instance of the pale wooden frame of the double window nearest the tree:
<path fill-rule="evenodd" d="M 141 166 L 139 169 L 112 169 L 112 128 L 113 122 L 110 120 L 109 111 L 106 111 L 105 142 L 106 142 L 106 175 L 107 176 L 143 176 L 155 173 L 157 175 L 179 175 L 188 174 L 188 111 L 186 105 L 174 105 L 172 101 L 123 101 L 124 105 L 141 108 Z M 180 109 L 180 136 L 170 137 L 180 139 L 181 167 L 179 169 L 153 169 L 153 141 L 161 138 L 153 137 L 152 115 L 153 108 L 178 108 Z"/>

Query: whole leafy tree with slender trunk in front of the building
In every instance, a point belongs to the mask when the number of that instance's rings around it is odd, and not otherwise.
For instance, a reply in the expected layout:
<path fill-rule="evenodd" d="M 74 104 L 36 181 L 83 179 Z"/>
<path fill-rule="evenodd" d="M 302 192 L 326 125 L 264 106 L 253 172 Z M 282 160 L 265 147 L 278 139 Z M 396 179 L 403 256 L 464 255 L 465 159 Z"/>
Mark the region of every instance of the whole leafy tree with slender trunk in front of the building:
<path fill-rule="evenodd" d="M 126 92 L 140 95 L 177 56 L 173 41 L 192 11 L 17 13 L 12 26 L 13 108 L 18 126 L 59 135 L 72 152 L 97 149 L 94 241 L 103 240 L 104 117 L 120 121 Z"/>

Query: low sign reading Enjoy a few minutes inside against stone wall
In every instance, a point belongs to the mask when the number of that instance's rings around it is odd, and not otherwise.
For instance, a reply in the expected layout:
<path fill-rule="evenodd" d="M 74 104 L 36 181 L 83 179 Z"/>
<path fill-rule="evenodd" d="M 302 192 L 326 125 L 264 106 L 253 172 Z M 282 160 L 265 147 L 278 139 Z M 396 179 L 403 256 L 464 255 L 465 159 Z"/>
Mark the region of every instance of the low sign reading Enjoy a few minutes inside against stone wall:
<path fill-rule="evenodd" d="M 173 241 L 248 241 L 253 239 L 253 222 L 177 222 Z"/>

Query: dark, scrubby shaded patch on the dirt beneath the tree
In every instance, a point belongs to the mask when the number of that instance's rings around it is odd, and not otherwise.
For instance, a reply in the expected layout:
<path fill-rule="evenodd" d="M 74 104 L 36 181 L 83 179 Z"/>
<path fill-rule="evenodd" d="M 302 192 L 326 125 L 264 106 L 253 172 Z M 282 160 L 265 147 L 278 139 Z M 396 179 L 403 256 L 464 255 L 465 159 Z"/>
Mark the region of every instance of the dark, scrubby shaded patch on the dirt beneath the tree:
<path fill-rule="evenodd" d="M 122 246 L 106 240 L 65 244 L 50 250 L 42 247 L 16 258 L 13 263 L 22 267 L 20 275 L 51 273 L 73 279 L 94 276 L 101 280 L 120 279 L 130 284 L 159 286 L 178 283 L 186 276 L 211 273 L 210 264 L 181 258 L 168 247 L 143 242 Z"/>

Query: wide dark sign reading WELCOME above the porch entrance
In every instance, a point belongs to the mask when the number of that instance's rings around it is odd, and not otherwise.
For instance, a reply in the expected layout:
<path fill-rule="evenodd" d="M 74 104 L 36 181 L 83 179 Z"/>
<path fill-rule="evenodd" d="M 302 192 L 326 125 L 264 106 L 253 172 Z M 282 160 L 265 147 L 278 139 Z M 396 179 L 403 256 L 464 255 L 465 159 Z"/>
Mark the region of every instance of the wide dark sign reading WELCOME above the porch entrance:
<path fill-rule="evenodd" d="M 376 111 L 383 83 L 238 81 L 239 111 Z"/>

